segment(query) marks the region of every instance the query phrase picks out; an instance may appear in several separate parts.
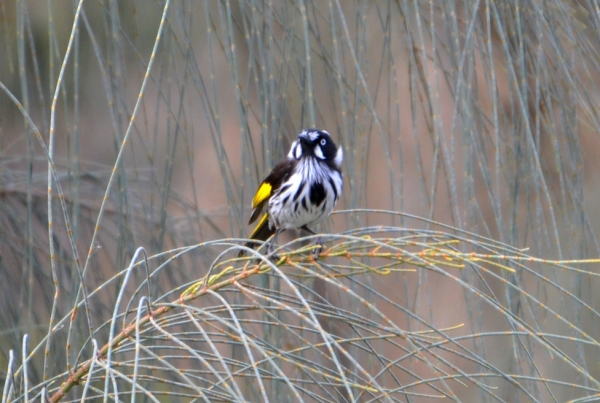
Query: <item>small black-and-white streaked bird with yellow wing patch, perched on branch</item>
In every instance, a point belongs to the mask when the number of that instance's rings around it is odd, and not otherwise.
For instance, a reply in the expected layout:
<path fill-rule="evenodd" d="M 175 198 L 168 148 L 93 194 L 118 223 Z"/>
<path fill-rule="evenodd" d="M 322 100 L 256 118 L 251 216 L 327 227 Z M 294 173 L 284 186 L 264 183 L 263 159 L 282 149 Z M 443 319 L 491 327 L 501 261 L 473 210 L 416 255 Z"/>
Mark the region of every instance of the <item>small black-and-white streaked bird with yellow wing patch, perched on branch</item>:
<path fill-rule="evenodd" d="M 286 229 L 303 229 L 328 217 L 342 193 L 344 152 L 336 147 L 325 130 L 306 129 L 292 143 L 287 158 L 258 187 L 252 199 L 248 225 L 262 214 L 250 239 L 266 241 L 273 234 L 270 254 L 277 235 Z M 267 210 L 263 213 L 263 210 Z M 247 242 L 254 247 L 258 242 Z M 241 251 L 238 256 L 243 256 Z"/>

